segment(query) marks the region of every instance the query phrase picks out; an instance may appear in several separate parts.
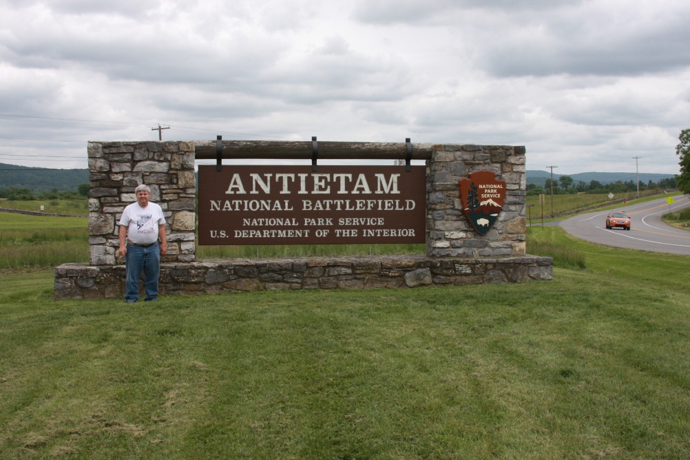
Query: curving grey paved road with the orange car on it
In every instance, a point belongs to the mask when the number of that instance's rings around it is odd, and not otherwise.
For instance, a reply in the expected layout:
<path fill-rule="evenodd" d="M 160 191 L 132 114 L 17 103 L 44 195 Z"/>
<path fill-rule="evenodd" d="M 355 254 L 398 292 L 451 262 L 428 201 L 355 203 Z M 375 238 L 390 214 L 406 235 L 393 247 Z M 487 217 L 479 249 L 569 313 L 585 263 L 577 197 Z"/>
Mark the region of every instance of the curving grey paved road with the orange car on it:
<path fill-rule="evenodd" d="M 671 211 L 690 207 L 690 197 L 678 195 L 671 204 Z M 666 199 L 647 201 L 634 206 L 620 206 L 616 210 L 627 212 L 631 217 L 631 230 L 614 228 L 607 230 L 606 216 L 609 211 L 590 212 L 571 217 L 560 226 L 573 237 L 616 248 L 638 249 L 652 252 L 690 255 L 690 231 L 667 226 L 661 221 L 662 214 L 669 212 Z"/>

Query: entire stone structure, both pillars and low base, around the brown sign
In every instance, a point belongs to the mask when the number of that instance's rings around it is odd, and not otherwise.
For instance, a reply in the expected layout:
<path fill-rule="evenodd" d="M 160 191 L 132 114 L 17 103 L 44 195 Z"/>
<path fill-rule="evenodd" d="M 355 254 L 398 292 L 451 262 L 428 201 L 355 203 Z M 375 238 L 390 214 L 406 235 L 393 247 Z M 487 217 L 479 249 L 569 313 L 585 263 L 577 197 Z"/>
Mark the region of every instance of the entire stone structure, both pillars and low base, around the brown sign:
<path fill-rule="evenodd" d="M 160 293 L 257 290 L 416 288 L 552 278 L 550 257 L 525 254 L 525 150 L 511 146 L 437 145 L 427 162 L 426 255 L 196 261 L 195 143 L 90 142 L 90 266 L 55 268 L 56 299 L 121 298 L 119 218 L 140 183 L 164 210 L 168 255 Z M 466 220 L 459 182 L 477 171 L 506 183 L 502 211 L 481 235 Z"/>

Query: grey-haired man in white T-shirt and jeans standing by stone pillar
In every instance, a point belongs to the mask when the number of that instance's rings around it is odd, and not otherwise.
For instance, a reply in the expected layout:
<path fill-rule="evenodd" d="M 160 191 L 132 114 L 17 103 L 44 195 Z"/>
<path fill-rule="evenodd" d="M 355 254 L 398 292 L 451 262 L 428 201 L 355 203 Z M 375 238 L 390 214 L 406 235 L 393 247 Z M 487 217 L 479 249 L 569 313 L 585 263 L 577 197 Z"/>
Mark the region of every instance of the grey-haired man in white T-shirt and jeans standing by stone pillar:
<path fill-rule="evenodd" d="M 135 194 L 137 202 L 127 206 L 120 219 L 119 252 L 125 257 L 127 271 L 125 300 L 136 302 L 139 299 L 139 276 L 143 271 L 146 278 L 144 300 L 154 301 L 158 295 L 161 255 L 168 250 L 166 219 L 161 207 L 148 201 L 151 197 L 148 186 L 141 184 Z"/>

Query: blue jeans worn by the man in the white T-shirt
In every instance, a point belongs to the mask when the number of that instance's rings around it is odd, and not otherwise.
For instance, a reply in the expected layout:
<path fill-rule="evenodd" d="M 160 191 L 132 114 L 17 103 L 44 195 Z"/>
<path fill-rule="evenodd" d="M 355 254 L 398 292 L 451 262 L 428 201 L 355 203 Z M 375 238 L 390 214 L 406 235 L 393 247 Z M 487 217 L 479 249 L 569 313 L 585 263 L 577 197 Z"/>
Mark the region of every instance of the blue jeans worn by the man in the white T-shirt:
<path fill-rule="evenodd" d="M 141 276 L 141 272 L 144 272 L 146 278 L 145 300 L 155 300 L 158 295 L 158 276 L 161 268 L 161 250 L 158 243 L 154 243 L 148 248 L 127 243 L 125 267 L 127 270 L 125 300 L 135 302 L 139 299 L 139 276 Z"/>

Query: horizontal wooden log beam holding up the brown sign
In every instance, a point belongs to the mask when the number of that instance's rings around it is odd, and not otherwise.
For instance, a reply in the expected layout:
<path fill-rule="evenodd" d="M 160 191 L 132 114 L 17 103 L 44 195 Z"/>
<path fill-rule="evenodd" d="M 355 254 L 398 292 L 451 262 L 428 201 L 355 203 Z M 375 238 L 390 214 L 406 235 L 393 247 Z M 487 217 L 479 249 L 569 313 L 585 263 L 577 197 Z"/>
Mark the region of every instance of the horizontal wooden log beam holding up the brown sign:
<path fill-rule="evenodd" d="M 216 141 L 195 141 L 197 160 L 216 158 Z M 412 159 L 431 158 L 433 144 L 413 143 Z M 319 159 L 405 159 L 404 142 L 319 141 Z M 311 159 L 311 141 L 223 141 L 224 159 Z"/>

